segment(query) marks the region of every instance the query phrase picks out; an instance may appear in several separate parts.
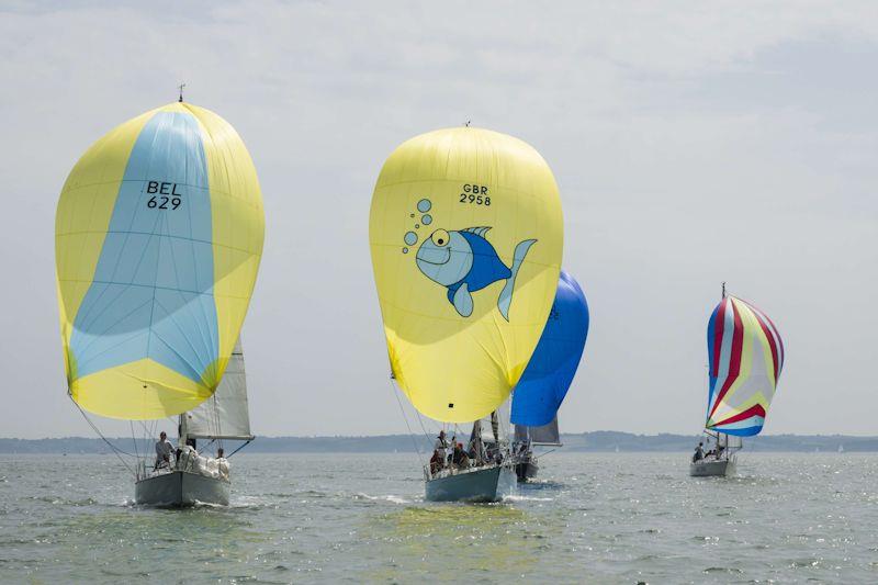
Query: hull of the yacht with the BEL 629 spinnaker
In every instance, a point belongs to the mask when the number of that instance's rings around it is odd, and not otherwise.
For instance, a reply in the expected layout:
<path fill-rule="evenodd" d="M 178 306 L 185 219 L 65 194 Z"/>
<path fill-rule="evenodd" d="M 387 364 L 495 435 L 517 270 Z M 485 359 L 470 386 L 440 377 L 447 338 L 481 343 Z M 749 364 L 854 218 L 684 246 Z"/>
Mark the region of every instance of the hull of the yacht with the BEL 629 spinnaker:
<path fill-rule="evenodd" d="M 146 506 L 183 507 L 195 504 L 228 506 L 232 484 L 187 471 L 153 475 L 134 484 L 134 500 Z"/>

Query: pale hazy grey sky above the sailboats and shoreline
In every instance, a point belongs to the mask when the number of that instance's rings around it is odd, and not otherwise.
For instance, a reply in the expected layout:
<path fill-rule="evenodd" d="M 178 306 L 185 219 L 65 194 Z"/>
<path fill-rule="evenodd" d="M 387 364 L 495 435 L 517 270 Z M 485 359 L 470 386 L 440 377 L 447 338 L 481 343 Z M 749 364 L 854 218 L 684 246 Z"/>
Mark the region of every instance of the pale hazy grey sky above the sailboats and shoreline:
<path fill-rule="evenodd" d="M 181 80 L 262 184 L 256 434 L 405 430 L 370 198 L 399 143 L 468 120 L 533 145 L 561 189 L 592 308 L 564 430 L 697 432 L 725 280 L 786 342 L 766 431 L 878 434 L 875 2 L 180 4 L 0 3 L 0 436 L 91 434 L 66 396 L 55 205 L 91 143 Z"/>

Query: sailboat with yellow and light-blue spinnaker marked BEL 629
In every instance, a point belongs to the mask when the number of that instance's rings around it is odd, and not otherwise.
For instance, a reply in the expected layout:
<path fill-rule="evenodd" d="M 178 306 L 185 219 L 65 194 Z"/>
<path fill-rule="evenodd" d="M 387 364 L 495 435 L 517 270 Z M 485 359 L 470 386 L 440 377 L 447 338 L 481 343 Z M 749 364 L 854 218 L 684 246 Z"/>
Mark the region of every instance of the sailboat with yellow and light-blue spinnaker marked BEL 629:
<path fill-rule="evenodd" d="M 228 502 L 227 462 L 185 442 L 229 429 L 249 436 L 249 423 L 244 431 L 240 424 L 246 390 L 229 380 L 215 392 L 229 361 L 236 367 L 263 238 L 262 196 L 244 143 L 182 95 L 109 132 L 67 178 L 55 256 L 69 397 L 95 430 L 86 412 L 131 420 L 132 429 L 138 421 L 145 432 L 185 413 L 180 457 L 162 442 L 155 460 L 135 453 L 143 459 L 132 468 L 123 459 L 138 503 Z"/>

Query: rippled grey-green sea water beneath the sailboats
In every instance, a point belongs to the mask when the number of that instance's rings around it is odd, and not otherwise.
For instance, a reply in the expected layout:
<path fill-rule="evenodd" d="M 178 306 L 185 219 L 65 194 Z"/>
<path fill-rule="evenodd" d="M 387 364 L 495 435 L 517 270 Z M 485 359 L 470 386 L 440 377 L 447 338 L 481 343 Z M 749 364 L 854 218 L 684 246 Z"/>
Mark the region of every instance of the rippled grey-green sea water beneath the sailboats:
<path fill-rule="evenodd" d="M 2 583 L 878 583 L 878 455 L 565 453 L 492 505 L 414 454 L 233 459 L 228 508 L 135 506 L 112 455 L 0 457 Z"/>

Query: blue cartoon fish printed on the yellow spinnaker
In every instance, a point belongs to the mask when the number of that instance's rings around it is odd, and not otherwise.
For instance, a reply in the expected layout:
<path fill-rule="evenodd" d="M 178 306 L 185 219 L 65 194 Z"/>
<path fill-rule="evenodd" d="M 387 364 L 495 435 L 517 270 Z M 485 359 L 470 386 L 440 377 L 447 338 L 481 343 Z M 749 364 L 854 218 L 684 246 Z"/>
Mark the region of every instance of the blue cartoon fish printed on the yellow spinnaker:
<path fill-rule="evenodd" d="M 505 280 L 497 308 L 508 322 L 515 278 L 537 240 L 519 241 L 513 252 L 513 267 L 508 268 L 485 239 L 488 229 L 491 227 L 468 227 L 455 232 L 437 229 L 420 245 L 415 261 L 424 275 L 448 288 L 448 301 L 462 317 L 473 314 L 472 293 Z"/>

